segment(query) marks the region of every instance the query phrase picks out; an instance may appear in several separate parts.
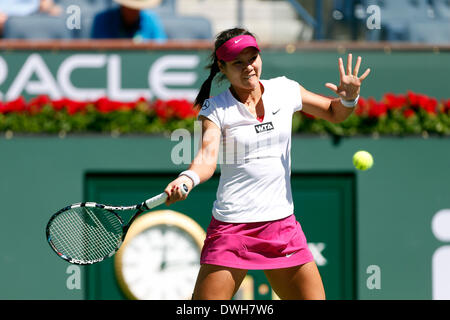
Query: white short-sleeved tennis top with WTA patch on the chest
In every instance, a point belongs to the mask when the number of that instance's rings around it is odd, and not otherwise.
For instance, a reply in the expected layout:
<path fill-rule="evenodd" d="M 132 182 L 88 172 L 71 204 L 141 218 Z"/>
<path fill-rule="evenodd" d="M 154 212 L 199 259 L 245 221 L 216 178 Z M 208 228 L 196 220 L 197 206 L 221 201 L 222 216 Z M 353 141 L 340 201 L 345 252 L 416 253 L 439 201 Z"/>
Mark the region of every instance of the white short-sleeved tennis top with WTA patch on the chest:
<path fill-rule="evenodd" d="M 261 83 L 262 122 L 230 90 L 205 100 L 199 113 L 222 132 L 212 210 L 219 221 L 271 221 L 294 213 L 290 150 L 292 115 L 302 108 L 300 86 L 286 77 Z"/>

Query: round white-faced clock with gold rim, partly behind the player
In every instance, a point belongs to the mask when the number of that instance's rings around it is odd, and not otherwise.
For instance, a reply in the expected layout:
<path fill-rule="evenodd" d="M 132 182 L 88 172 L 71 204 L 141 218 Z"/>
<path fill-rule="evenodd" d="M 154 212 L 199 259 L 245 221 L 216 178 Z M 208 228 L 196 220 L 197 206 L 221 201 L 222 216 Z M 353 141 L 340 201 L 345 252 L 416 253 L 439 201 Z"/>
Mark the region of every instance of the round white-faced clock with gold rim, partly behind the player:
<path fill-rule="evenodd" d="M 120 288 L 129 299 L 191 299 L 200 269 L 204 230 L 172 210 L 138 217 L 115 256 Z"/>

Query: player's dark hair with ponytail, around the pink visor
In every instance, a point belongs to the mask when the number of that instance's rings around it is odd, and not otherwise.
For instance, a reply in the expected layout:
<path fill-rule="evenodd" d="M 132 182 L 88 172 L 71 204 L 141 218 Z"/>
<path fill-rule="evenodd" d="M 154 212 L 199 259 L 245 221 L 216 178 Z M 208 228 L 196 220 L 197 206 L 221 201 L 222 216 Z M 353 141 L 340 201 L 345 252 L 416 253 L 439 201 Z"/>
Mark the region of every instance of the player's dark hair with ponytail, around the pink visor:
<path fill-rule="evenodd" d="M 201 108 L 203 102 L 205 102 L 205 100 L 209 98 L 211 92 L 211 85 L 214 80 L 214 77 L 220 72 L 219 60 L 217 59 L 216 55 L 217 49 L 219 49 L 221 45 L 223 45 L 231 38 L 242 35 L 249 35 L 255 38 L 255 36 L 251 32 L 242 28 L 227 29 L 217 35 L 216 41 L 214 42 L 214 51 L 211 53 L 210 56 L 211 63 L 208 66 L 206 66 L 206 69 L 210 69 L 209 77 L 203 82 L 202 86 L 200 87 L 200 91 L 197 95 L 197 98 L 195 98 L 194 102 L 195 108 Z M 224 64 L 225 62 L 220 60 L 220 63 Z M 219 78 L 220 81 L 224 79 L 225 75 L 221 75 L 221 77 Z"/>

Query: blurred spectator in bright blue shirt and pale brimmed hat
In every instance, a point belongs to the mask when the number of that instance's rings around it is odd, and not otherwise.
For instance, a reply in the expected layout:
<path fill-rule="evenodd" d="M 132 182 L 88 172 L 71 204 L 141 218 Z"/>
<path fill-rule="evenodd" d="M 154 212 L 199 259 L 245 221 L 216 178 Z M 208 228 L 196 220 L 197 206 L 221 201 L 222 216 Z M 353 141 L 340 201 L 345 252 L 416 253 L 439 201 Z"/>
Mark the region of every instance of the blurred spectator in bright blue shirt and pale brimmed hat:
<path fill-rule="evenodd" d="M 167 36 L 158 15 L 149 10 L 161 0 L 114 0 L 119 7 L 98 13 L 91 37 L 94 39 L 129 38 L 164 41 Z"/>

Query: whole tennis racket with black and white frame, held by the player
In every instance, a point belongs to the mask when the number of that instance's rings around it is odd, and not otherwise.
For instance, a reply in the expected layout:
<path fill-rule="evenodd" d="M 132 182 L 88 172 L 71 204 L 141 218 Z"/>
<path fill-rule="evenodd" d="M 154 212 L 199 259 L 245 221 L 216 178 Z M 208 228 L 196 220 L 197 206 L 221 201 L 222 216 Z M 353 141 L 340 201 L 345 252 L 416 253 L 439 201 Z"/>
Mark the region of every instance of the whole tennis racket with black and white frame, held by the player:
<path fill-rule="evenodd" d="M 180 186 L 183 194 L 189 190 Z M 163 204 L 165 192 L 127 207 L 95 202 L 75 203 L 56 212 L 48 221 L 47 241 L 58 256 L 73 264 L 94 264 L 113 256 L 119 250 L 134 219 L 143 211 Z M 117 211 L 136 211 L 125 224 Z"/>

